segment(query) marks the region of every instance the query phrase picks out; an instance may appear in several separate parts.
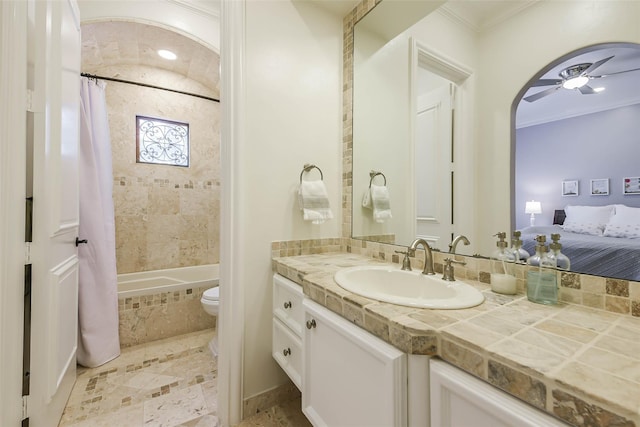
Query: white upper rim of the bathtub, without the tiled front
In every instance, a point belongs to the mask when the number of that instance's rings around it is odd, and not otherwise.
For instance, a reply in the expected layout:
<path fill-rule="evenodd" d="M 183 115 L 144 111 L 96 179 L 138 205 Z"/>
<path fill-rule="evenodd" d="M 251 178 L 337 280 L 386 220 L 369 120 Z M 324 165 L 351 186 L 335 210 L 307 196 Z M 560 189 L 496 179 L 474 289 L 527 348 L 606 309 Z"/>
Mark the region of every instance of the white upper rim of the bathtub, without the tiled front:
<path fill-rule="evenodd" d="M 118 274 L 118 298 L 153 295 L 181 289 L 213 288 L 219 282 L 219 264 Z"/>

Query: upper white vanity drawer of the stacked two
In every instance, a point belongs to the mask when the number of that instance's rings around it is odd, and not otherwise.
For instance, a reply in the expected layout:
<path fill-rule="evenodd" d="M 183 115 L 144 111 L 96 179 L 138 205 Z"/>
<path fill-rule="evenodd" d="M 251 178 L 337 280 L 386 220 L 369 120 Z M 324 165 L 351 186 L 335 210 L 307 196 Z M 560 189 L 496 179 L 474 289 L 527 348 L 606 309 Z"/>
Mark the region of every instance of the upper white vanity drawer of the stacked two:
<path fill-rule="evenodd" d="M 302 287 L 295 282 L 273 275 L 273 314 L 302 337 L 304 310 L 302 309 Z"/>

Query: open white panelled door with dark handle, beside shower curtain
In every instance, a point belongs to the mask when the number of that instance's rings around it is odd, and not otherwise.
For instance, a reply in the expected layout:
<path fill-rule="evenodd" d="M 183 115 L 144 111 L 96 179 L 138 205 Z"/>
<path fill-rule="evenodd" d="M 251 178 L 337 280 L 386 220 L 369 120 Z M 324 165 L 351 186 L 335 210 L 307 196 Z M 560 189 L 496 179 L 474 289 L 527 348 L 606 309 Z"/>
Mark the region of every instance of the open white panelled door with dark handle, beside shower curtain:
<path fill-rule="evenodd" d="M 28 417 L 56 426 L 76 376 L 80 19 L 75 1 L 29 2 L 27 168 L 33 195 Z M 32 176 L 32 181 L 29 178 Z"/>

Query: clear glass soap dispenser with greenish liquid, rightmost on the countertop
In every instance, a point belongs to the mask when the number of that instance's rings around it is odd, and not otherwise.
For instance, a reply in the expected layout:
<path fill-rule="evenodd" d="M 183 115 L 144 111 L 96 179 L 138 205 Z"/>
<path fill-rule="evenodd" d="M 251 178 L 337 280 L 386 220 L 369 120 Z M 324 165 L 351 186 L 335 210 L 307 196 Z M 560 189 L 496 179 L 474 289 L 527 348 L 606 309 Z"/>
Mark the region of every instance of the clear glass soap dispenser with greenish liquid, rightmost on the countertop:
<path fill-rule="evenodd" d="M 538 304 L 557 304 L 558 285 L 555 258 L 549 256 L 544 235 L 536 237 L 536 253 L 527 260 L 527 299 Z"/>

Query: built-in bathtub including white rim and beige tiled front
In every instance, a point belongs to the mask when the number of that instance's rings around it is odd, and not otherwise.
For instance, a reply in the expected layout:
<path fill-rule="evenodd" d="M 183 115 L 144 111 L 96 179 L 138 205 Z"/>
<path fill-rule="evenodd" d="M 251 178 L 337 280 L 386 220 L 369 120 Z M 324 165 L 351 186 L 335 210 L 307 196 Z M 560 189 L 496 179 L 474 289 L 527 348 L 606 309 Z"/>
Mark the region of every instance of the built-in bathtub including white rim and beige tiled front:
<path fill-rule="evenodd" d="M 144 344 L 212 329 L 202 294 L 218 286 L 219 265 L 169 268 L 118 275 L 120 346 Z"/>

